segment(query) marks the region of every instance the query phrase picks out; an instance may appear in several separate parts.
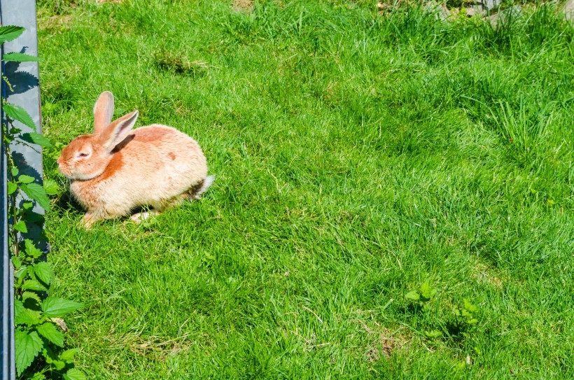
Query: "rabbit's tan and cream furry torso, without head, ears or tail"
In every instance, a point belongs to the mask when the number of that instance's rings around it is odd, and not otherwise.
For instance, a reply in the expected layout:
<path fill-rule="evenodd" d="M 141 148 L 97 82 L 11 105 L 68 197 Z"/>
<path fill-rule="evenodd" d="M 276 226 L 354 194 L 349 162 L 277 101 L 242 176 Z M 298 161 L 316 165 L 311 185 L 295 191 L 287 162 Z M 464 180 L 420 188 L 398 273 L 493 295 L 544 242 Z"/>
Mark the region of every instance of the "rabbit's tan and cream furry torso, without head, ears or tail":
<path fill-rule="evenodd" d="M 200 146 L 177 129 L 141 127 L 125 141 L 102 175 L 71 182 L 72 194 L 93 216 L 125 216 L 139 206 L 163 209 L 207 176 Z"/>

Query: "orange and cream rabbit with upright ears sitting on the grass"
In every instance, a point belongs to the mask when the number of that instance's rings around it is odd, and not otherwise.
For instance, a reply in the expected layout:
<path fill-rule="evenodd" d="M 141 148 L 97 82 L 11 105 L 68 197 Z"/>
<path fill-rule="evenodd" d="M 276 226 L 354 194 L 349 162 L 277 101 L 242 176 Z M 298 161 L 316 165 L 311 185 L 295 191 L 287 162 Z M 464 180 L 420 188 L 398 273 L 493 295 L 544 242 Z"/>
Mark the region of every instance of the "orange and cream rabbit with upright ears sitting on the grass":
<path fill-rule="evenodd" d="M 138 111 L 113 122 L 112 116 L 113 94 L 102 92 L 94 105 L 94 133 L 73 139 L 57 160 L 87 211 L 85 227 L 151 207 L 132 215 L 139 223 L 169 205 L 199 199 L 213 183 L 200 146 L 187 134 L 158 124 L 132 130 Z"/>

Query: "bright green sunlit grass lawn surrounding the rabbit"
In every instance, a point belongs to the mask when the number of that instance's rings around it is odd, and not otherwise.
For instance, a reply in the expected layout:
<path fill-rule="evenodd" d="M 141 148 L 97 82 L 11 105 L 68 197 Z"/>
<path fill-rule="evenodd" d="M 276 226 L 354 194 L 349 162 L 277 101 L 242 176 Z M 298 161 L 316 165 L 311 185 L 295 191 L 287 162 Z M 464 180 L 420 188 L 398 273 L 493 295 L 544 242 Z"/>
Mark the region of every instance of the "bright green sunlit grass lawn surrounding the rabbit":
<path fill-rule="evenodd" d="M 572 24 L 375 3 L 38 1 L 52 293 L 87 304 L 90 379 L 574 376 Z M 200 142 L 204 199 L 78 227 L 55 160 L 104 90 Z"/>

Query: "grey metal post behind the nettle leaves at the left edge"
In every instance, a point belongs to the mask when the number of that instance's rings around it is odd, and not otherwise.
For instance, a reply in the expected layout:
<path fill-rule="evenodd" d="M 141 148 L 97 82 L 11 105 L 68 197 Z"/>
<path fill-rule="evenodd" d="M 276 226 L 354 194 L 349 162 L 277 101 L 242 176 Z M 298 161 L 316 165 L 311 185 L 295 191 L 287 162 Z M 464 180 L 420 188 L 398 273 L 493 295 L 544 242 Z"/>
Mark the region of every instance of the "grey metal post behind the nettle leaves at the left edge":
<path fill-rule="evenodd" d="M 29 55 L 38 55 L 38 40 L 36 27 L 36 1 L 35 0 L 0 0 L 0 23 L 2 25 L 17 25 L 25 27 L 26 31 L 14 41 L 4 43 L 3 53 L 7 52 L 25 52 Z M 8 62 L 3 67 L 3 75 L 8 78 L 12 90 L 6 90 L 3 94 L 5 99 L 12 104 L 22 106 L 29 113 L 36 132 L 41 133 L 41 114 L 40 114 L 40 87 L 39 87 L 39 69 L 37 62 Z M 22 133 L 32 132 L 29 127 L 15 122 L 15 127 L 22 129 Z M 36 178 L 38 183 L 42 183 L 42 152 L 41 148 L 29 148 L 27 146 L 18 146 L 10 152 L 18 167 L 22 168 L 21 173 Z M 6 178 L 6 160 L 2 156 L 1 172 L 2 178 Z M 3 183 L 1 195 L 2 211 L 6 211 L 6 187 Z M 36 206 L 36 213 L 44 213 L 40 206 Z M 2 248 L 2 346 L 1 346 L 1 380 L 13 380 L 16 378 L 15 371 L 15 349 L 14 349 L 14 275 L 13 267 L 10 262 L 10 253 L 8 252 L 7 238 L 8 225 L 6 213 L 3 213 L 1 220 L 3 237 Z M 27 237 L 38 241 L 41 237 L 41 227 L 36 230 L 30 230 Z M 41 249 L 45 250 L 45 243 L 41 244 Z"/>

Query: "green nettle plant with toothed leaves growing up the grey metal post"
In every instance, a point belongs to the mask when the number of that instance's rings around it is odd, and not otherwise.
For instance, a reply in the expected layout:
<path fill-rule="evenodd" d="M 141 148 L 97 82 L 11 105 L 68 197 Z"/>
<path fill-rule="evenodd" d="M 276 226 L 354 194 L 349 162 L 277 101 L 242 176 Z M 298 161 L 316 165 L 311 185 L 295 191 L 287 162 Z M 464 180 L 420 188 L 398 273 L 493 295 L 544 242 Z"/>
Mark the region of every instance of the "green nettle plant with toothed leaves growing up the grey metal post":
<path fill-rule="evenodd" d="M 25 29 L 15 26 L 0 27 L 0 44 L 18 38 Z M 35 62 L 38 59 L 24 53 L 8 53 L 2 57 L 5 62 Z M 2 85 L 12 90 L 6 76 L 2 76 Z M 8 245 L 14 267 L 14 323 L 15 323 L 15 364 L 18 379 L 65 379 L 83 380 L 85 374 L 73 367 L 73 356 L 78 349 L 64 350 L 65 314 L 74 311 L 82 304 L 59 297 L 50 296 L 50 287 L 54 283 L 54 272 L 45 253 L 38 248 L 39 241 L 25 239 L 31 228 L 43 225 L 43 216 L 34 212 L 34 203 L 48 211 L 48 195 L 57 193 L 55 181 L 46 180 L 43 185 L 36 179 L 21 174 L 26 168 L 19 167 L 10 147 L 24 144 L 51 146 L 50 141 L 36 132 L 22 133 L 14 122 L 36 130 L 34 121 L 27 111 L 1 98 L 2 145 L 6 153 L 8 178 Z M 27 196 L 27 200 L 23 197 Z"/>

